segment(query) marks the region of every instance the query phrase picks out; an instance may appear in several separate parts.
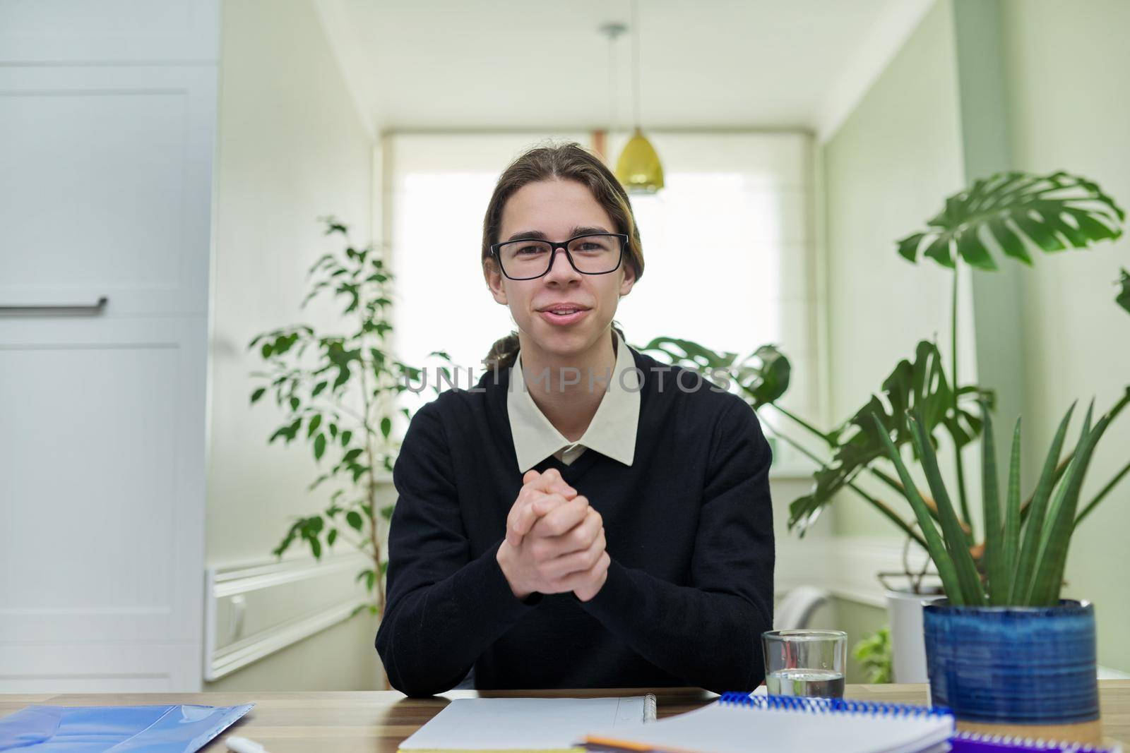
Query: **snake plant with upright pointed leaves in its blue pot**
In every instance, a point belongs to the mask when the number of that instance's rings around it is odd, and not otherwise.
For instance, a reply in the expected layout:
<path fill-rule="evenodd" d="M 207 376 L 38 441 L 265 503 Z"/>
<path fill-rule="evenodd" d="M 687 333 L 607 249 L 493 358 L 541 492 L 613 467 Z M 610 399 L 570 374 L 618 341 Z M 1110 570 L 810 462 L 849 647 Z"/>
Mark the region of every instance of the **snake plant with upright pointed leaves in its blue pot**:
<path fill-rule="evenodd" d="M 1085 511 L 1079 492 L 1095 446 L 1110 426 L 1092 426 L 1087 410 L 1075 448 L 1060 469 L 1074 405 L 1059 424 L 1025 510 L 1020 505 L 1020 422 L 1012 434 L 1007 491 L 998 487 L 992 419 L 984 412 L 982 493 L 984 568 L 970 554 L 921 414 L 907 418 L 914 453 L 937 502 L 935 522 L 898 449 L 884 445 L 938 568 L 946 599 L 924 607 L 931 701 L 950 707 L 966 726 L 1015 734 L 1016 727 L 1051 727 L 1038 736 L 1097 743 L 1099 726 L 1095 612 L 1087 602 L 1060 598 L 1067 554 Z M 1031 730 L 1025 734 L 1031 734 Z"/>

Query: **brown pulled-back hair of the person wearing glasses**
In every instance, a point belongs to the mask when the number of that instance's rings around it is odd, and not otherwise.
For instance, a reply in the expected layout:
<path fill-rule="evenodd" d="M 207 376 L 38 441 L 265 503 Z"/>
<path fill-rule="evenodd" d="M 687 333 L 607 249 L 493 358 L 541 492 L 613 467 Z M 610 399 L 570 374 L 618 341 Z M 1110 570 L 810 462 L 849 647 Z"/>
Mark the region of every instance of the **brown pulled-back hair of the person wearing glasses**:
<path fill-rule="evenodd" d="M 498 243 L 502 229 L 502 211 L 515 191 L 528 183 L 538 181 L 576 181 L 589 187 L 593 198 L 603 207 L 616 226 L 616 233 L 628 236 L 628 247 L 624 259 L 635 272 L 635 279 L 643 277 L 643 246 L 640 244 L 640 228 L 628 194 L 608 169 L 603 160 L 575 141 L 548 143 L 534 147 L 522 155 L 503 170 L 487 204 L 487 213 L 483 219 L 483 274 L 492 269 L 497 270 L 492 244 Z M 624 331 L 614 322 L 612 329 L 624 336 Z M 485 366 L 487 369 L 507 369 L 518 358 L 518 331 L 499 338 L 490 347 Z"/>

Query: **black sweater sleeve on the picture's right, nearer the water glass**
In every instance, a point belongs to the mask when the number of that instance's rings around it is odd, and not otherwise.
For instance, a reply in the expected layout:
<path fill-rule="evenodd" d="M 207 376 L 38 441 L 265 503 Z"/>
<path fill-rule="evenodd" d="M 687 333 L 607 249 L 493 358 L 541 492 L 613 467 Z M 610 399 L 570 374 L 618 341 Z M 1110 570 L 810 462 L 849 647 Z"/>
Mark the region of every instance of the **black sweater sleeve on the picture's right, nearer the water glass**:
<path fill-rule="evenodd" d="M 711 447 L 689 585 L 614 559 L 600 592 L 581 605 L 687 683 L 753 691 L 765 676 L 760 636 L 773 623 L 772 450 L 756 413 L 740 402 L 720 417 Z"/>

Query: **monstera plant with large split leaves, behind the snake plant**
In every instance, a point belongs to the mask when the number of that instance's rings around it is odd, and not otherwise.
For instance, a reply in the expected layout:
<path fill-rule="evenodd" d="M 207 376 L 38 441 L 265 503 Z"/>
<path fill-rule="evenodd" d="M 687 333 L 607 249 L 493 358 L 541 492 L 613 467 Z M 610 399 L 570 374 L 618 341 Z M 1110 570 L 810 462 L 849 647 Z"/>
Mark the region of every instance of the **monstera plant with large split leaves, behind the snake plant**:
<path fill-rule="evenodd" d="M 1001 173 L 976 181 L 967 190 L 947 198 L 944 209 L 927 221 L 927 227 L 898 240 L 896 248 L 910 262 L 929 257 L 954 272 L 948 378 L 937 343 L 923 340 L 918 343 L 913 358 L 895 365 L 880 392 L 832 429 L 822 429 L 782 404 L 791 366 L 774 345 L 762 345 L 754 357 L 740 361 L 734 353 L 714 352 L 699 343 L 672 338 L 659 338 L 646 348 L 666 353 L 671 362 L 705 371 L 707 376 L 710 368 L 740 365 L 745 376 L 738 379 L 739 393 L 754 409 L 767 406 L 782 415 L 790 427 L 801 429 L 819 443 L 816 448 L 809 447 L 790 431 L 773 426 L 780 440 L 817 464 L 811 491 L 789 507 L 789 527 L 799 531 L 801 536 L 822 510 L 840 492 L 847 490 L 928 549 L 916 516 L 907 518 L 898 509 L 911 504 L 912 492 L 902 479 L 879 464 L 887 457 L 887 443 L 898 448 L 914 447 L 914 434 L 906 419 L 916 413 L 919 430 L 931 446 L 937 443 L 939 432 L 948 435 L 957 472 L 955 517 L 971 557 L 980 564 L 986 542 L 979 541 L 973 528 L 959 450 L 981 438 L 985 409 L 992 408 L 994 395 L 981 386 L 957 382 L 957 270 L 964 263 L 977 273 L 991 272 L 999 268 L 998 259 L 1001 257 L 1032 265 L 1040 252 L 1086 248 L 1097 242 L 1113 240 L 1122 235 L 1124 219 L 1123 210 L 1096 183 L 1063 172 L 1043 176 Z M 1130 273 L 1122 270 L 1119 283 L 1116 301 L 1130 312 Z M 1113 421 L 1128 403 L 1130 387 L 1104 418 Z M 1066 465 L 1064 461 L 1059 473 Z M 1130 462 L 1083 507 L 1080 515 L 1093 510 L 1128 473 Z M 859 483 L 862 474 L 877 480 L 902 502 L 892 504 L 881 499 L 880 493 L 866 489 Z M 1033 509 L 1034 493 L 1022 504 L 1022 514 Z M 940 524 L 939 502 L 927 493 L 918 493 L 918 498 L 924 504 L 930 519 Z"/>

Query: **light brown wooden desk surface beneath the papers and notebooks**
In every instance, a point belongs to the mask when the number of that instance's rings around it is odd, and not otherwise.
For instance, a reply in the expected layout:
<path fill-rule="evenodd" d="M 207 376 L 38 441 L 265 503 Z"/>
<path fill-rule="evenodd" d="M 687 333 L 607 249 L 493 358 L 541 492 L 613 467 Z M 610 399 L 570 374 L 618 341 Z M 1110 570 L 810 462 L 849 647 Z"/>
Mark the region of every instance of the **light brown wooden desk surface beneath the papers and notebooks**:
<path fill-rule="evenodd" d="M 0 716 L 31 703 L 54 706 L 123 706 L 153 703 L 205 703 L 234 706 L 254 702 L 247 716 L 205 748 L 226 751 L 223 738 L 238 734 L 267 746 L 271 753 L 395 753 L 406 737 L 440 712 L 449 699 L 490 695 L 574 697 L 641 695 L 647 690 L 579 691 L 451 691 L 428 699 L 410 699 L 395 691 L 355 693 L 106 693 L 92 695 L 0 695 Z M 659 716 L 690 711 L 713 699 L 697 689 L 652 690 Z M 1106 737 L 1130 743 L 1130 680 L 1099 681 L 1103 729 Z M 847 685 L 845 698 L 894 703 L 924 703 L 925 685 Z"/>

